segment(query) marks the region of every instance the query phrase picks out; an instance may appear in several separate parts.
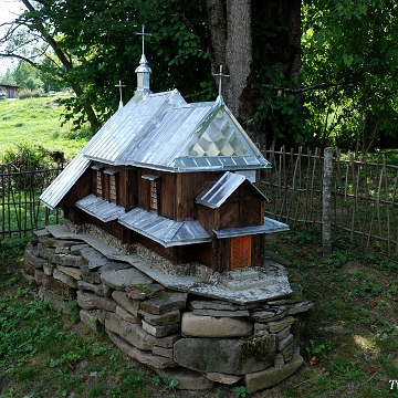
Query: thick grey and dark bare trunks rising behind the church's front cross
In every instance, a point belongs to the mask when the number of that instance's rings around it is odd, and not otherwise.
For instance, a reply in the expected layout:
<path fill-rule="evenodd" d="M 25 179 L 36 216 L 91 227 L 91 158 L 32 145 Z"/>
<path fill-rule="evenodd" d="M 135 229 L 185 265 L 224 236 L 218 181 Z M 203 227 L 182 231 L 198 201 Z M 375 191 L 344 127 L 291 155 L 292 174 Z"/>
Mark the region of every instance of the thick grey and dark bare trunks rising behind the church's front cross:
<path fill-rule="evenodd" d="M 224 66 L 223 73 L 230 75 L 222 82 L 226 104 L 252 138 L 260 140 L 256 137 L 264 135 L 268 127 L 259 126 L 259 130 L 254 132 L 248 122 L 263 100 L 262 66 L 276 67 L 287 80 L 297 81 L 301 0 L 206 0 L 206 4 L 212 72 L 219 72 L 220 64 Z M 268 32 L 263 27 L 272 28 Z"/>

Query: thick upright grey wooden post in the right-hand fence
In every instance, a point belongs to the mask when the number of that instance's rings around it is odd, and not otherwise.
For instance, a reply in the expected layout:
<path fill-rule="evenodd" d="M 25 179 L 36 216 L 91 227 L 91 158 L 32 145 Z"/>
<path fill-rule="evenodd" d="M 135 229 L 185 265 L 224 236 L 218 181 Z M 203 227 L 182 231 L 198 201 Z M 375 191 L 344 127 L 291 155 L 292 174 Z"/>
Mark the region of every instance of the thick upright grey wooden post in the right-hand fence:
<path fill-rule="evenodd" d="M 323 185 L 322 185 L 322 249 L 323 255 L 332 253 L 332 174 L 333 148 L 324 149 Z"/>

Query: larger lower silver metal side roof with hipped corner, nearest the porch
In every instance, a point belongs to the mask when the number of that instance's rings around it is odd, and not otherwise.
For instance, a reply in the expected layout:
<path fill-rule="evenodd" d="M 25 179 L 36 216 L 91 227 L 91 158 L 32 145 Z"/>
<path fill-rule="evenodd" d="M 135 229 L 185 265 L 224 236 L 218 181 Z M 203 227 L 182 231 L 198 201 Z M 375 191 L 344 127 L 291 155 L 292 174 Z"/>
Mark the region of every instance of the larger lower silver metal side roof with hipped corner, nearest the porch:
<path fill-rule="evenodd" d="M 118 222 L 165 248 L 211 241 L 199 221 L 174 221 L 140 208 L 125 213 L 118 219 Z"/>

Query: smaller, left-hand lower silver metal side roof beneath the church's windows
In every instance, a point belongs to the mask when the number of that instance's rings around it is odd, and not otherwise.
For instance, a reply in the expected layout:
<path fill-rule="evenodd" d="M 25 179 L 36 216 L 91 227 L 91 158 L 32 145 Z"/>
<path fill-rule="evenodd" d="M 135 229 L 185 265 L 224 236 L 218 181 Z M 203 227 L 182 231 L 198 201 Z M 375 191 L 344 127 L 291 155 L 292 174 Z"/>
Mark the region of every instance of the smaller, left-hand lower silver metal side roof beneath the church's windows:
<path fill-rule="evenodd" d="M 76 207 L 104 222 L 117 220 L 125 213 L 125 209 L 123 207 L 108 202 L 95 195 L 88 195 L 87 197 L 78 200 L 76 202 Z"/>

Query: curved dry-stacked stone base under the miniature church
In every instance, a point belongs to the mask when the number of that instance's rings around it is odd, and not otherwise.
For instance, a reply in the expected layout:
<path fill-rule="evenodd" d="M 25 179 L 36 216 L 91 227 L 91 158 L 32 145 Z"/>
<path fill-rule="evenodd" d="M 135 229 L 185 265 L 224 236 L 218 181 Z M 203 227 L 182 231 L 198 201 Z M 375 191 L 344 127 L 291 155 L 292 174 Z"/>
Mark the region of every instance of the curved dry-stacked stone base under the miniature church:
<path fill-rule="evenodd" d="M 298 332 L 312 303 L 298 285 L 283 300 L 248 305 L 177 292 L 84 241 L 55 239 L 45 229 L 27 248 L 24 273 L 42 300 L 60 308 L 75 301 L 87 327 L 105 328 L 119 349 L 178 380 L 179 389 L 220 383 L 254 392 L 303 363 Z"/>

